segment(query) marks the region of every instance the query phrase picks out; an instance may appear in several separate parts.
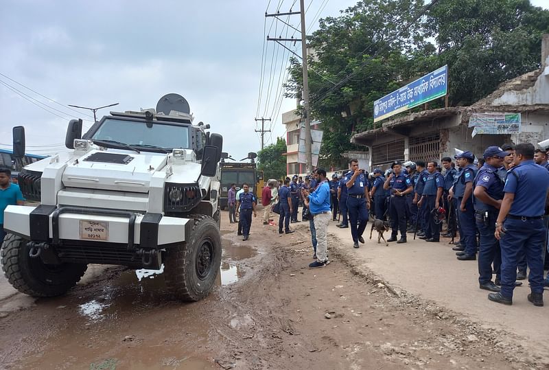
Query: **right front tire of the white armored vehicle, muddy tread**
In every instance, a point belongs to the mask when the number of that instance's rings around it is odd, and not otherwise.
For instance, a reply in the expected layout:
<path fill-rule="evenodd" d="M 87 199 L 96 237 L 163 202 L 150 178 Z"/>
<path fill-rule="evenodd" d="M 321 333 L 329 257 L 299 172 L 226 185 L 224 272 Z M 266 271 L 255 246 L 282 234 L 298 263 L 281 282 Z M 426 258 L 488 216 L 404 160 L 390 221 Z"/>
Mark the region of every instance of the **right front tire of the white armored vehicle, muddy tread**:
<path fill-rule="evenodd" d="M 194 224 L 186 242 L 166 249 L 167 289 L 183 301 L 199 301 L 215 284 L 221 265 L 221 235 L 209 216 L 191 215 Z M 187 238 L 188 236 L 188 238 Z"/>

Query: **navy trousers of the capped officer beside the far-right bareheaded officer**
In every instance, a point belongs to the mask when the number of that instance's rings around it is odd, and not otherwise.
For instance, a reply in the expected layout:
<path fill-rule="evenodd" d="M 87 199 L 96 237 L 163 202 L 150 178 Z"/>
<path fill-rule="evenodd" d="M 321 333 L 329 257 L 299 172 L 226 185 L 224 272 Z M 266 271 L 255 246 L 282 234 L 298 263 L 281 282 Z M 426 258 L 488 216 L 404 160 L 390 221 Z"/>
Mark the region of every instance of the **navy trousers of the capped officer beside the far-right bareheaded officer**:
<path fill-rule="evenodd" d="M 478 282 L 486 284 L 492 280 L 492 264 L 495 270 L 495 279 L 501 280 L 502 253 L 500 241 L 493 235 L 495 233 L 495 220 L 498 213 L 489 212 L 488 218 L 484 211 L 475 213 L 476 227 L 480 232 L 480 246 L 478 248 Z"/>

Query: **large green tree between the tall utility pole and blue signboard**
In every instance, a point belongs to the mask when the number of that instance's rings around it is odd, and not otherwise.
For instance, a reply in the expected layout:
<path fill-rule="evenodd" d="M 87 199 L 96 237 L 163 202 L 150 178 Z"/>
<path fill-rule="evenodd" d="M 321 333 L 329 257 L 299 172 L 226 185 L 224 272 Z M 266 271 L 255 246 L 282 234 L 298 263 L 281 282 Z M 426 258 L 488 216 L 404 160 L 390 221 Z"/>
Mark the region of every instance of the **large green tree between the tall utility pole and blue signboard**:
<path fill-rule="evenodd" d="M 423 0 L 359 1 L 341 16 L 320 20 L 319 30 L 309 36 L 314 50 L 307 60 L 311 113 L 324 130 L 322 165 L 341 167 L 342 152 L 363 149 L 349 138 L 373 127 L 373 101 L 417 74 L 408 54 L 421 54 L 429 46 L 421 22 L 412 22 L 422 5 Z M 292 59 L 286 96 L 299 97 L 301 86 L 301 63 Z"/>

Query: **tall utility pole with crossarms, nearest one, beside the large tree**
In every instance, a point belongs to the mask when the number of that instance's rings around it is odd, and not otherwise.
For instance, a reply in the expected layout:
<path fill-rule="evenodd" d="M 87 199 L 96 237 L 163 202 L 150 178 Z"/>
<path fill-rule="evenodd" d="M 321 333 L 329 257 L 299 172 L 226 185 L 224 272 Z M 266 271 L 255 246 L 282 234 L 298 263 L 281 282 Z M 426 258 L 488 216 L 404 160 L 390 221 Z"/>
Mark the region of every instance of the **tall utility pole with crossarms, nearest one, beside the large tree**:
<path fill-rule="evenodd" d="M 279 16 L 283 15 L 301 15 L 301 60 L 303 66 L 303 118 L 305 118 L 305 161 L 307 166 L 307 172 L 312 172 L 313 170 L 313 160 L 312 160 L 312 137 L 311 137 L 311 118 L 309 115 L 309 75 L 307 73 L 307 34 L 305 34 L 305 5 L 304 0 L 299 0 L 300 10 L 299 12 L 286 12 L 286 13 L 275 13 L 275 14 L 265 14 L 265 16 L 274 16 L 279 21 Z M 285 23 L 284 21 L 282 21 Z M 286 23 L 288 24 L 288 23 Z M 292 27 L 294 28 L 294 27 Z M 299 38 L 270 38 L 267 36 L 267 41 L 276 41 L 282 47 L 285 47 L 281 41 L 300 41 Z M 288 49 L 288 48 L 286 48 Z M 291 50 L 290 50 L 291 51 Z"/>

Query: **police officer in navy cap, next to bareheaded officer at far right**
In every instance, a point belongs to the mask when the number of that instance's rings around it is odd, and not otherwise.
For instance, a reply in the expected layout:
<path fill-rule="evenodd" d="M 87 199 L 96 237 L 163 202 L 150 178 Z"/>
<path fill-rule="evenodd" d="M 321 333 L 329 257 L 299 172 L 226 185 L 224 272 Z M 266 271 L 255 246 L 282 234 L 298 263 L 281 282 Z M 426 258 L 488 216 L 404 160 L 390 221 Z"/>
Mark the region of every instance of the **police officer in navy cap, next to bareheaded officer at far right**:
<path fill-rule="evenodd" d="M 480 289 L 499 292 L 500 288 L 492 282 L 492 264 L 495 280 L 501 278 L 500 242 L 494 236 L 495 220 L 503 199 L 504 180 L 498 175 L 507 152 L 497 146 L 484 150 L 484 165 L 480 167 L 474 181 L 474 207 L 476 227 L 480 232 L 478 251 L 478 284 Z"/>

